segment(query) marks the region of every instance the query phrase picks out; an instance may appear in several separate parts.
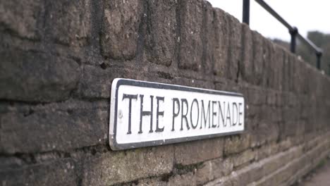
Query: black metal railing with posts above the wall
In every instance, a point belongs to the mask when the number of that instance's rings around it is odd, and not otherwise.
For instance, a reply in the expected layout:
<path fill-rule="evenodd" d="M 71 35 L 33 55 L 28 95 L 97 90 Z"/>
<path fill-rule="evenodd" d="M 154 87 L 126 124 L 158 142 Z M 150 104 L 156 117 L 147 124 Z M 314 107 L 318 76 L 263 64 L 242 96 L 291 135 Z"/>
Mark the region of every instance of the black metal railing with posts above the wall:
<path fill-rule="evenodd" d="M 282 23 L 286 28 L 288 28 L 288 31 L 291 35 L 291 43 L 290 43 L 290 50 L 292 53 L 295 53 L 295 46 L 296 46 L 296 38 L 300 39 L 301 42 L 304 44 L 310 46 L 317 56 L 317 68 L 321 68 L 321 57 L 322 57 L 322 49 L 317 47 L 313 42 L 310 41 L 310 39 L 302 37 L 300 33 L 298 32 L 297 27 L 291 26 L 286 20 L 284 20 L 281 16 L 279 16 L 279 13 L 276 13 L 273 8 L 271 8 L 266 2 L 263 0 L 255 0 L 262 8 L 264 8 L 266 11 L 268 11 L 271 16 L 274 16 L 277 20 L 279 20 L 280 23 Z M 243 23 L 246 23 L 247 25 L 250 24 L 250 0 L 243 0 Z"/>

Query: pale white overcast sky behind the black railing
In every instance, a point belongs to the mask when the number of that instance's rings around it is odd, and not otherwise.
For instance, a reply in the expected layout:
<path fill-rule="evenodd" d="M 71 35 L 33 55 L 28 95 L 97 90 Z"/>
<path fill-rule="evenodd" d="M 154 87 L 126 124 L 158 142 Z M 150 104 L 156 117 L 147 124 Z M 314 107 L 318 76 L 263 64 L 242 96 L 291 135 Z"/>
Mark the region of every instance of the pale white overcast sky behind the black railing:
<path fill-rule="evenodd" d="M 207 0 L 212 6 L 235 16 L 242 22 L 243 0 Z M 308 31 L 330 34 L 329 0 L 264 0 L 291 26 L 298 27 L 299 33 L 307 37 Z M 264 37 L 290 41 L 288 29 L 271 16 L 262 6 L 250 0 L 250 28 Z"/>

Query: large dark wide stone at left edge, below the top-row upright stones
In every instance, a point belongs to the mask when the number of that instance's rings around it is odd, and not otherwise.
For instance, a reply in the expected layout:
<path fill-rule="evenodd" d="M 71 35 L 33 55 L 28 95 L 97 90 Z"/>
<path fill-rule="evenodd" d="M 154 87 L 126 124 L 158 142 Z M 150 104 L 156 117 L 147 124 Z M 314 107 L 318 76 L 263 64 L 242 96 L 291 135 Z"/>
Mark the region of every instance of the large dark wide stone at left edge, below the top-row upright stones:
<path fill-rule="evenodd" d="M 61 101 L 78 82 L 78 63 L 68 58 L 13 49 L 1 49 L 0 58 L 1 99 Z"/>

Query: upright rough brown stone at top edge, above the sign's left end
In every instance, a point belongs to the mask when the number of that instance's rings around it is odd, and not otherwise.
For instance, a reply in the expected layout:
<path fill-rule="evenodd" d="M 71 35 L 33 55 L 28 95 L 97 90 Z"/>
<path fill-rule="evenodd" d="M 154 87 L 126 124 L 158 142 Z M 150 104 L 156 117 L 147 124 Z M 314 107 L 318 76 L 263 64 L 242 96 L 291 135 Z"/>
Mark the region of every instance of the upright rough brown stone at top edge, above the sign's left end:
<path fill-rule="evenodd" d="M 143 14 L 142 2 L 116 0 L 104 1 L 104 3 L 101 34 L 103 56 L 115 59 L 134 58 L 139 38 L 139 25 L 142 16 L 147 16 Z"/>

